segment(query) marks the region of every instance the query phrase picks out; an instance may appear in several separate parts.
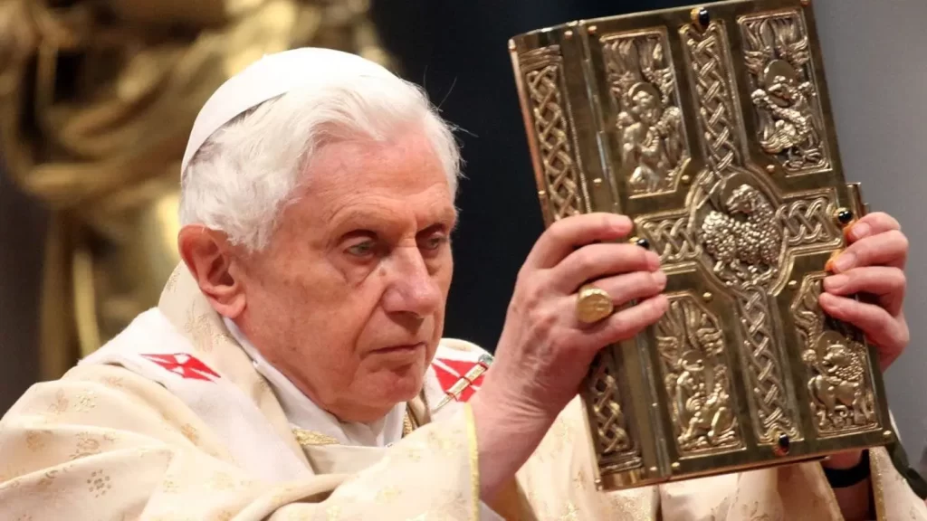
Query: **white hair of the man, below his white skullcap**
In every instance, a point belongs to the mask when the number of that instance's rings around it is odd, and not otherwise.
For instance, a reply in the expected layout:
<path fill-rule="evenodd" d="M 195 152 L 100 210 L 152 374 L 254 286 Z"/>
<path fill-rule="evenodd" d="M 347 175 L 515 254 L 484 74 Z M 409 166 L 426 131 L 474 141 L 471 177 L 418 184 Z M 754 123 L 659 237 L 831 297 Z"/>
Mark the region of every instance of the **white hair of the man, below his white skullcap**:
<path fill-rule="evenodd" d="M 415 125 L 434 147 L 453 197 L 460 150 L 425 93 L 397 77 L 353 77 L 292 90 L 213 133 L 182 174 L 180 222 L 222 231 L 251 251 L 263 249 L 321 146 L 383 142 Z"/>

